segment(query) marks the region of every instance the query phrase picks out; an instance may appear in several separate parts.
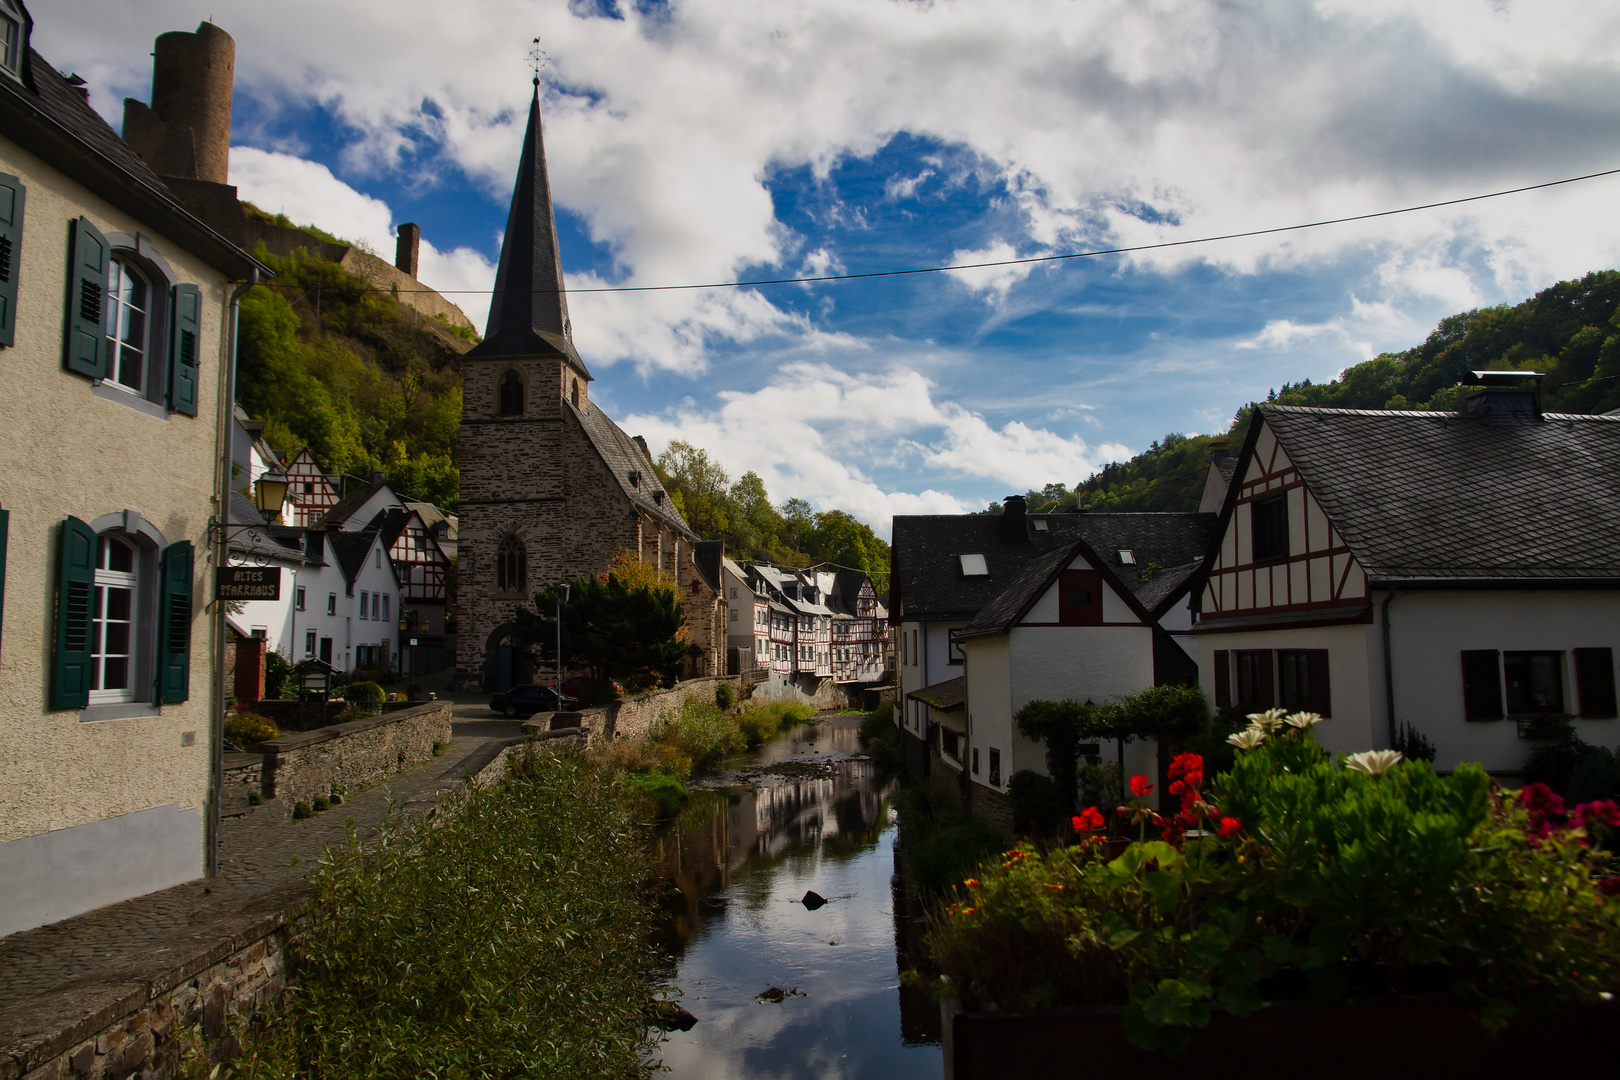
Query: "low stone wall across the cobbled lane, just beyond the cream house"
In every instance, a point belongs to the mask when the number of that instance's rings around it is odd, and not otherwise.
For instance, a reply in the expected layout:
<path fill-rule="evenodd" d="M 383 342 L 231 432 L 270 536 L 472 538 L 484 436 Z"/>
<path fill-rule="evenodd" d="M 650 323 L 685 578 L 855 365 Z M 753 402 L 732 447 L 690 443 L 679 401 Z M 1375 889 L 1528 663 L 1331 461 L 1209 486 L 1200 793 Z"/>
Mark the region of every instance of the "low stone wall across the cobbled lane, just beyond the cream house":
<path fill-rule="evenodd" d="M 450 742 L 449 701 L 280 735 L 253 750 L 264 755 L 264 797 L 279 798 L 292 813 L 334 787 L 356 790 L 426 761 L 436 742 Z"/>

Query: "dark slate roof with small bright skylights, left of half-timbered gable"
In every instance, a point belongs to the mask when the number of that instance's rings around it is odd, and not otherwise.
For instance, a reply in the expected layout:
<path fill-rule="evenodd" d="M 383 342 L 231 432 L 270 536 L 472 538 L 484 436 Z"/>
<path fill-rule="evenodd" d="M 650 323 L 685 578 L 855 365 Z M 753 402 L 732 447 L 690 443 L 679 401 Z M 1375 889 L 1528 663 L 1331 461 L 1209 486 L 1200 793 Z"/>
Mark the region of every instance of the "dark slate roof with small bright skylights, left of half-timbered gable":
<path fill-rule="evenodd" d="M 1139 583 L 1150 562 L 1187 567 L 1174 586 L 1189 581 L 1215 536 L 1213 513 L 1032 513 L 1022 529 L 1003 528 L 1003 515 L 901 515 L 894 518 L 891 612 L 907 620 L 972 620 L 1021 580 L 1035 559 L 1056 549 L 1071 552 L 1084 539 L 1153 615 L 1179 596 L 1162 570 Z M 1038 528 L 1043 523 L 1047 528 Z M 1119 562 L 1131 551 L 1136 565 Z M 962 554 L 983 554 L 988 576 L 962 576 Z M 1045 563 L 1043 563 L 1045 565 Z M 1053 570 L 1055 572 L 1055 570 Z M 1034 588 L 1027 581 L 1024 588 Z M 1011 602 L 1011 599 L 1008 601 Z"/>

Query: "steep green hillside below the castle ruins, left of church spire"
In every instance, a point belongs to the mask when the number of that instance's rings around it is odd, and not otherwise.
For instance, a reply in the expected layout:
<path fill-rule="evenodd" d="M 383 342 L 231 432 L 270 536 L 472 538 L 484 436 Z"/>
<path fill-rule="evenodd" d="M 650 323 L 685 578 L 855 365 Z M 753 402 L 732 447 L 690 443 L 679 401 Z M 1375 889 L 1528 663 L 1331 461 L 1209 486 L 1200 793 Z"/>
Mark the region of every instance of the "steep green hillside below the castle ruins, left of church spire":
<path fill-rule="evenodd" d="M 275 279 L 241 300 L 237 400 L 269 444 L 454 510 L 468 335 L 327 259 L 256 256 Z"/>

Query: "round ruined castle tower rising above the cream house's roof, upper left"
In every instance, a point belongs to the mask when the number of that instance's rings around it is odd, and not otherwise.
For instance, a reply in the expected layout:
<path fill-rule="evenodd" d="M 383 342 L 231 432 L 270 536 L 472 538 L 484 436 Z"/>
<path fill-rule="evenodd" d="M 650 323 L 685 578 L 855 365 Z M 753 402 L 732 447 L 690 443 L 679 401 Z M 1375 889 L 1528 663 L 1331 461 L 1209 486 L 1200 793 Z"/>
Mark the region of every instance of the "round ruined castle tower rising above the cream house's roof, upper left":
<path fill-rule="evenodd" d="M 237 42 L 201 23 L 162 34 L 152 50 L 152 104 L 123 99 L 123 141 L 159 176 L 225 183 Z"/>

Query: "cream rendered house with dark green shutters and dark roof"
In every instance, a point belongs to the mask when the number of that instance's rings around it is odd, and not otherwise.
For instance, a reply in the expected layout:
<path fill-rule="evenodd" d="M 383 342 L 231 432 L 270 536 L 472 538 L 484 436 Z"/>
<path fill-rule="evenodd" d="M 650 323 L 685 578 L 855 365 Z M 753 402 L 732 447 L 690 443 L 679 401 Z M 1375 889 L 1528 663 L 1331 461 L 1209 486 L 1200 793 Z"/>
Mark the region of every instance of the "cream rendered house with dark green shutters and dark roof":
<path fill-rule="evenodd" d="M 237 283 L 29 45 L 0 50 L 0 934 L 190 881 L 214 826 Z M 228 457 L 228 455 L 227 455 Z"/>

